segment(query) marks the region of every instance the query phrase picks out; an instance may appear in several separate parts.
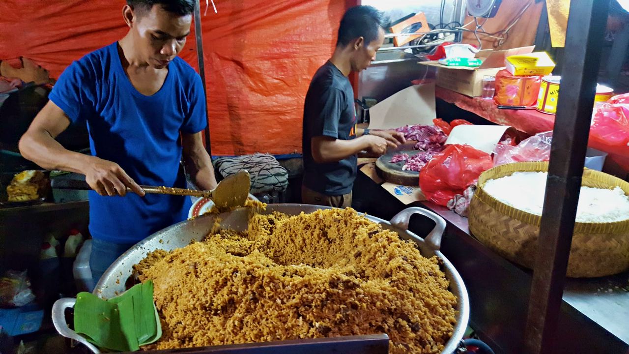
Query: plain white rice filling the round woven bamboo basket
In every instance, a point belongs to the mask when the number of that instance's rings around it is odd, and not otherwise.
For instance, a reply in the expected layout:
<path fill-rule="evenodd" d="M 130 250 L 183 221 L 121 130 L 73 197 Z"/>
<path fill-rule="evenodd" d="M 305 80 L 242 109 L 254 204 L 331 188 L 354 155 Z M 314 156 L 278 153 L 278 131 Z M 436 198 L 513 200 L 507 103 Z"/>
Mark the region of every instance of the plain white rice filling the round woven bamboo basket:
<path fill-rule="evenodd" d="M 547 173 L 516 172 L 486 181 L 483 189 L 499 201 L 535 215 L 542 215 Z M 616 222 L 629 219 L 629 197 L 620 188 L 582 186 L 577 222 Z"/>

